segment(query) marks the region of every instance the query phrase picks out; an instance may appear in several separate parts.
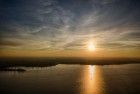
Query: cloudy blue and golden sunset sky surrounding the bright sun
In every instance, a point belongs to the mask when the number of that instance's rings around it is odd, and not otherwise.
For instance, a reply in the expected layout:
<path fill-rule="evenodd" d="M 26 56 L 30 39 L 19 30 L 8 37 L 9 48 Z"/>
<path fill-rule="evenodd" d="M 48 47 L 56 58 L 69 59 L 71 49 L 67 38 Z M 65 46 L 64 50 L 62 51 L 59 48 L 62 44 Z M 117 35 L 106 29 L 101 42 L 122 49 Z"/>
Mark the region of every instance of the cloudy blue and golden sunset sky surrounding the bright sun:
<path fill-rule="evenodd" d="M 140 1 L 0 0 L 0 56 L 140 57 Z"/>

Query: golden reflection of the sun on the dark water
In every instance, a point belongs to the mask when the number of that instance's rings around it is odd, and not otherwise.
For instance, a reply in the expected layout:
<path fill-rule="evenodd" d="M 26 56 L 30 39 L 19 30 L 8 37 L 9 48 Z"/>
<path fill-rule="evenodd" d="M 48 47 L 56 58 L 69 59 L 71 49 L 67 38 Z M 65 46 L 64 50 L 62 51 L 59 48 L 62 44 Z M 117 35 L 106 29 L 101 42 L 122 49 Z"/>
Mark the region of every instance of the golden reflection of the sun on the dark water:
<path fill-rule="evenodd" d="M 104 81 L 98 66 L 86 66 L 81 94 L 104 94 Z"/>

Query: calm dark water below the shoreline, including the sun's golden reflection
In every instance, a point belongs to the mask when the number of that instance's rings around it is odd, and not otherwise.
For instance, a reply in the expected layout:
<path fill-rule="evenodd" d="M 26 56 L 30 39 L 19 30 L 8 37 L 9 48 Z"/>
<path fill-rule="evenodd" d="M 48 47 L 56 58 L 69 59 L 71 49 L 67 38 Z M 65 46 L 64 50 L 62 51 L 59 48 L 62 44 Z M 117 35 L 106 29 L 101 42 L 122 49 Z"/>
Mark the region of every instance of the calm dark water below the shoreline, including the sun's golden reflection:
<path fill-rule="evenodd" d="M 140 64 L 25 69 L 0 72 L 0 94 L 140 94 Z"/>

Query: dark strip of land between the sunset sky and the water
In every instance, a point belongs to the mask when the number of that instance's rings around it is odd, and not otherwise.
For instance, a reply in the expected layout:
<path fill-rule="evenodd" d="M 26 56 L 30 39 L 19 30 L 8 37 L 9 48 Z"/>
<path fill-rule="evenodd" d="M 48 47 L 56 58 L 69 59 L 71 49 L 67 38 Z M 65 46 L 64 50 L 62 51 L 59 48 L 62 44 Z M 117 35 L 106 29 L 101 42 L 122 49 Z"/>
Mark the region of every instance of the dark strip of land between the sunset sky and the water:
<path fill-rule="evenodd" d="M 113 65 L 136 64 L 140 58 L 0 58 L 0 71 L 25 71 L 9 67 L 49 67 L 57 64 Z"/>

